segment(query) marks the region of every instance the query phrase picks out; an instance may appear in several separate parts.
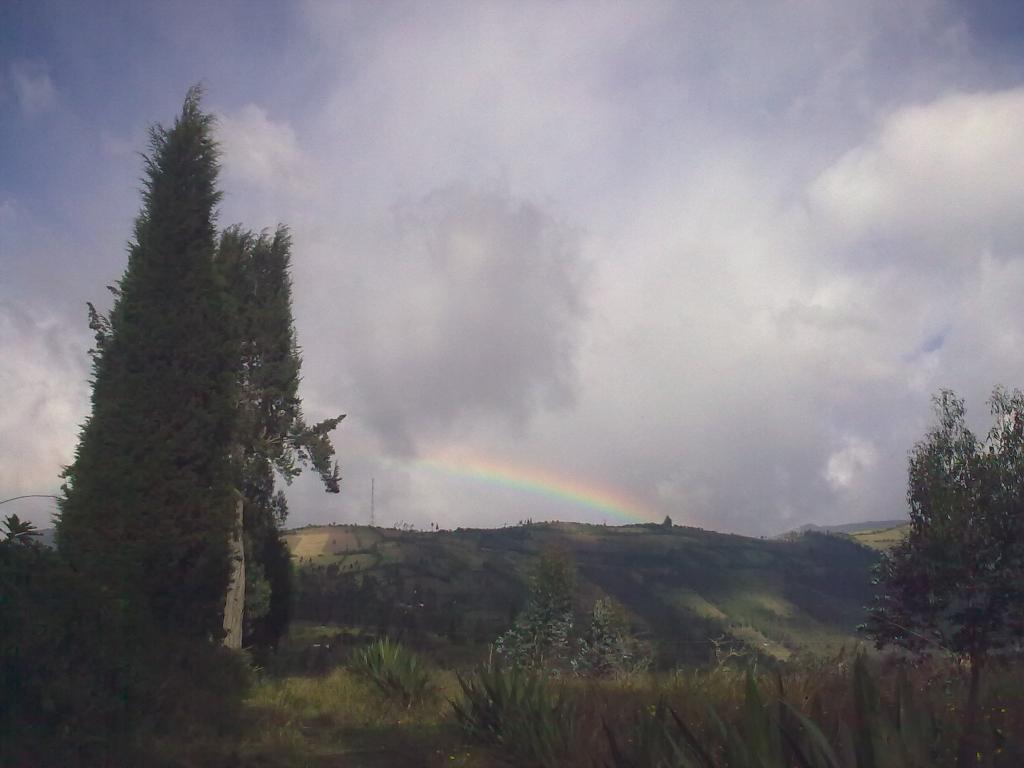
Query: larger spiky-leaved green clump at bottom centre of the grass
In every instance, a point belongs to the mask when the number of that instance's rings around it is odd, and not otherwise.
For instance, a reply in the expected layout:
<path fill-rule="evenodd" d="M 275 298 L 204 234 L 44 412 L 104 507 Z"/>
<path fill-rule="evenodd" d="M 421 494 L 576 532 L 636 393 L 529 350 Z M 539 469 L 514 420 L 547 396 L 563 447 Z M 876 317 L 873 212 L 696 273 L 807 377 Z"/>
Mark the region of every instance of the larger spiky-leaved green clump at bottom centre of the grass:
<path fill-rule="evenodd" d="M 574 708 L 544 675 L 493 665 L 460 676 L 459 684 L 462 696 L 451 702 L 452 710 L 469 738 L 497 744 L 523 761 L 519 764 L 564 764 Z"/>

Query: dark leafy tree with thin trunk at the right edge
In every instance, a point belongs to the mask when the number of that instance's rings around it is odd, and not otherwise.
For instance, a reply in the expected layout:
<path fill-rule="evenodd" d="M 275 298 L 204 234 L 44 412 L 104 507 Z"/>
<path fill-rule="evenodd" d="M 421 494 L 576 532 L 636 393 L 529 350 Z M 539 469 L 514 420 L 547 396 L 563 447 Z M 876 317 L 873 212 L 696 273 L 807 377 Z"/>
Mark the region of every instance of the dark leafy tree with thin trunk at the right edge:
<path fill-rule="evenodd" d="M 1024 634 L 1024 394 L 996 389 L 989 404 L 994 425 L 981 440 L 963 399 L 935 398 L 938 424 L 910 455 L 910 531 L 879 565 L 866 626 L 879 647 L 969 662 L 962 765 L 973 756 L 982 669 Z"/>

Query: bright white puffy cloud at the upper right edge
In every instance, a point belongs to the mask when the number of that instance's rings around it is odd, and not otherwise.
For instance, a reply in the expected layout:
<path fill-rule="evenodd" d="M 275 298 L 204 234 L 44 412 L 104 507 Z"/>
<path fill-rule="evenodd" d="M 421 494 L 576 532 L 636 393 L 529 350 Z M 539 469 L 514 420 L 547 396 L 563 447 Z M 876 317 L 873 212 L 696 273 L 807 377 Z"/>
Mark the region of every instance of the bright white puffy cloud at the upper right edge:
<path fill-rule="evenodd" d="M 810 201 L 849 240 L 916 241 L 932 258 L 967 244 L 1020 253 L 1022 176 L 1024 88 L 952 93 L 888 115 Z"/>

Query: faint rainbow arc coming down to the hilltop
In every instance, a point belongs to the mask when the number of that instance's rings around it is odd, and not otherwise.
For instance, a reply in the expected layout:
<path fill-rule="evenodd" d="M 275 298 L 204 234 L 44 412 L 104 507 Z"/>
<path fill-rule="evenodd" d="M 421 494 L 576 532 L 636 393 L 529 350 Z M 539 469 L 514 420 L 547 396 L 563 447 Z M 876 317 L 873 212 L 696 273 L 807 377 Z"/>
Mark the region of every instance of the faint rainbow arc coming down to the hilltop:
<path fill-rule="evenodd" d="M 482 457 L 436 454 L 417 460 L 416 465 L 450 477 L 472 480 L 525 490 L 557 501 L 587 507 L 613 515 L 626 522 L 659 522 L 657 513 L 643 504 L 596 482 L 583 481 L 538 467 L 499 462 Z"/>

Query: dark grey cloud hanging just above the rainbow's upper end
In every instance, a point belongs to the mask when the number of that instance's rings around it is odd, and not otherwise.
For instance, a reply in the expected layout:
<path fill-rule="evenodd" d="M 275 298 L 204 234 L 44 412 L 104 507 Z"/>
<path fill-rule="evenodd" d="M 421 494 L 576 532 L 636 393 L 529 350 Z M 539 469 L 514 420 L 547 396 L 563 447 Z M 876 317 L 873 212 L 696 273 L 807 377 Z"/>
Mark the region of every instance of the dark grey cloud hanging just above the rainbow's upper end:
<path fill-rule="evenodd" d="M 571 228 L 498 187 L 450 186 L 399 205 L 393 236 L 348 275 L 362 334 L 345 354 L 389 450 L 571 403 L 586 313 Z"/>

